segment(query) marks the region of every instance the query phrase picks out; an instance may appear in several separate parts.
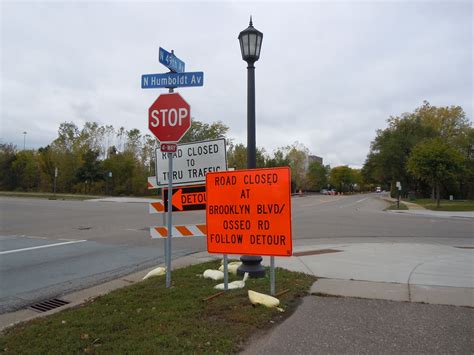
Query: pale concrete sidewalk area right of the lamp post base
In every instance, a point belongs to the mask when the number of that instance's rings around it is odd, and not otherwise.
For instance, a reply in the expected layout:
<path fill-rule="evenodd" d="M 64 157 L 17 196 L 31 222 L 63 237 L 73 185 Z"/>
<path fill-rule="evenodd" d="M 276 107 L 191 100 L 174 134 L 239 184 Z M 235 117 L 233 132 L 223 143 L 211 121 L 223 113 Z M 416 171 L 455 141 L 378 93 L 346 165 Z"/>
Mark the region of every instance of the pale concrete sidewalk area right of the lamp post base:
<path fill-rule="evenodd" d="M 312 293 L 474 307 L 473 246 L 313 245 L 276 265 L 319 277 Z"/>

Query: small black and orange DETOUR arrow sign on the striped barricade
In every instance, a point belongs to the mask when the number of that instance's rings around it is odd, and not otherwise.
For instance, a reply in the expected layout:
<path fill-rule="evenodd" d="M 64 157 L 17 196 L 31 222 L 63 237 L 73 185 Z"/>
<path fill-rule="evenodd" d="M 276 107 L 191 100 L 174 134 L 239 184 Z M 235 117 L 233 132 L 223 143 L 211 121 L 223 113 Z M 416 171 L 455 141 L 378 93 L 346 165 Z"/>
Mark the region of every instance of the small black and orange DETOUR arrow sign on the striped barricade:
<path fill-rule="evenodd" d="M 168 212 L 168 189 L 163 189 L 165 212 Z M 206 185 L 173 188 L 173 212 L 197 211 L 206 209 Z"/>

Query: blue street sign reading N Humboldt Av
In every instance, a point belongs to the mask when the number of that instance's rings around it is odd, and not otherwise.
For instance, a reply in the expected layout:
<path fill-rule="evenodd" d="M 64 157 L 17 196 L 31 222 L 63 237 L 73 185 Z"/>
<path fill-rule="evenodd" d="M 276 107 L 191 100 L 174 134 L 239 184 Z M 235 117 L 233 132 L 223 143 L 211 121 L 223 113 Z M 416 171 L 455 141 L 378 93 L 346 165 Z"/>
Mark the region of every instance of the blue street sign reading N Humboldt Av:
<path fill-rule="evenodd" d="M 203 84 L 204 73 L 202 71 L 142 75 L 142 89 L 184 88 L 203 86 Z"/>

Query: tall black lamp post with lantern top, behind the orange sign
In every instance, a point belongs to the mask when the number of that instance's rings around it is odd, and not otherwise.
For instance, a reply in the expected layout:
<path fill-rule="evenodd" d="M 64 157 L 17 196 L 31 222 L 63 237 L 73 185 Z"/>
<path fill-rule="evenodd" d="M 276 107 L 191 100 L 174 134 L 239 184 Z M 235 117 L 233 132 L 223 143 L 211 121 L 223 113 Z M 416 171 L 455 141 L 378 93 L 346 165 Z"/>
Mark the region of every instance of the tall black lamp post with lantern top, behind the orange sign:
<path fill-rule="evenodd" d="M 249 27 L 240 32 L 239 42 L 242 59 L 248 64 L 247 67 L 247 168 L 257 167 L 257 146 L 255 140 L 255 66 L 254 63 L 260 58 L 263 33 L 253 27 L 250 17 Z M 242 265 L 237 274 L 246 272 L 251 277 L 264 277 L 265 268 L 261 264 L 261 256 L 244 255 L 240 258 Z"/>

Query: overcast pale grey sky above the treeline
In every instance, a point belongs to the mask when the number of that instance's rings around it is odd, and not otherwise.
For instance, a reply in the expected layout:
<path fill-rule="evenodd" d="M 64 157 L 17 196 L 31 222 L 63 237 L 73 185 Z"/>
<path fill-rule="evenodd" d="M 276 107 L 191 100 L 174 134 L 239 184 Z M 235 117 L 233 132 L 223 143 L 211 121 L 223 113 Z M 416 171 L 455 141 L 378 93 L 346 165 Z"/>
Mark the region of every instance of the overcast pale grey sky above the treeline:
<path fill-rule="evenodd" d="M 204 86 L 178 91 L 192 116 L 246 144 L 246 63 L 237 40 L 263 32 L 257 146 L 299 141 L 331 166 L 360 167 L 375 131 L 423 100 L 472 120 L 472 1 L 1 1 L 0 142 L 49 144 L 61 122 L 148 133 L 174 49 Z"/>

